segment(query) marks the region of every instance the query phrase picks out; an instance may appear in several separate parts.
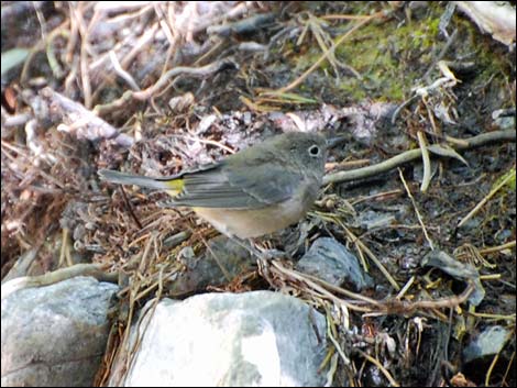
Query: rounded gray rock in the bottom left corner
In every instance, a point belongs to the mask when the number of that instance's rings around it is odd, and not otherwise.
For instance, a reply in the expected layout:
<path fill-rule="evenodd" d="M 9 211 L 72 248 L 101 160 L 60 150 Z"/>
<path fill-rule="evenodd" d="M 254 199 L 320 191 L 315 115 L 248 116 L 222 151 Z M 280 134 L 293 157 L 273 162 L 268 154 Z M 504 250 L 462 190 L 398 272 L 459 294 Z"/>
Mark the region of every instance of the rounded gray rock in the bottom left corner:
<path fill-rule="evenodd" d="M 76 277 L 19 289 L 2 299 L 2 387 L 91 386 L 117 290 L 91 277 Z"/>

